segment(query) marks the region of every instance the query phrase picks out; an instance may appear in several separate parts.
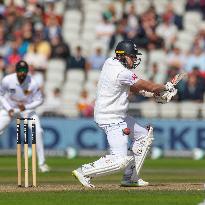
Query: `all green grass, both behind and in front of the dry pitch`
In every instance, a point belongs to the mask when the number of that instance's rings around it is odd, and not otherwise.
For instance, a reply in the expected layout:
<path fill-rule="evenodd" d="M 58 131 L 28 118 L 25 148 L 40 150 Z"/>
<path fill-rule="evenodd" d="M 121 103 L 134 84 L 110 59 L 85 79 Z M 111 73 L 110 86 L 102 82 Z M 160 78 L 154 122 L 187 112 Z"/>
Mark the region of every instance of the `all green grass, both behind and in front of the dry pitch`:
<path fill-rule="evenodd" d="M 65 185 L 67 187 L 77 186 L 79 183 L 71 176 L 71 171 L 79 165 L 91 162 L 96 158 L 67 159 L 62 157 L 48 158 L 48 164 L 52 167 L 50 173 L 38 173 L 38 185 Z M 160 159 L 146 160 L 141 176 L 153 185 L 152 190 L 139 188 L 120 188 L 117 186 L 121 180 L 122 173 L 97 178 L 93 181 L 96 186 L 104 186 L 102 190 L 59 190 L 41 192 L 29 188 L 16 188 L 16 158 L 0 158 L 0 183 L 1 187 L 14 187 L 15 192 L 0 191 L 0 205 L 47 205 L 47 204 L 143 204 L 143 205 L 197 205 L 205 200 L 205 191 L 179 190 L 177 183 L 203 183 L 205 182 L 205 160 L 193 161 L 191 159 Z M 176 190 L 158 190 L 158 184 L 176 183 Z M 116 190 L 108 189 L 104 184 L 114 184 Z M 151 186 L 152 187 L 152 186 Z M 38 190 L 38 188 L 36 189 Z"/>

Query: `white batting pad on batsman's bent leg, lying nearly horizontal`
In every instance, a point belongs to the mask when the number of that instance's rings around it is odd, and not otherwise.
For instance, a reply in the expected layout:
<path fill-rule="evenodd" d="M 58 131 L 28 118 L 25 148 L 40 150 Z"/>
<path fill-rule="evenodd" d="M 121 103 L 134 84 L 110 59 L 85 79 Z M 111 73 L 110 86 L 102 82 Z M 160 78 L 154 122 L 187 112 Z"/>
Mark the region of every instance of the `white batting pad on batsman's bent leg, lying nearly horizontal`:
<path fill-rule="evenodd" d="M 82 165 L 82 172 L 88 177 L 107 175 L 124 169 L 132 160 L 133 156 L 106 155 L 93 163 Z"/>

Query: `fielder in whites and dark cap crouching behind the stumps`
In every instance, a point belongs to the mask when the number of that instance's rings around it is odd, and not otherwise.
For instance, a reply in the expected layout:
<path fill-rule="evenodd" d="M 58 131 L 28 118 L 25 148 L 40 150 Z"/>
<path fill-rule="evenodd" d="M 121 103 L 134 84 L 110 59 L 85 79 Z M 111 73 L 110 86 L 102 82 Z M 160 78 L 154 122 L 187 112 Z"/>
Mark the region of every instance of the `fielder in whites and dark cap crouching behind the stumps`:
<path fill-rule="evenodd" d="M 0 84 L 0 135 L 16 114 L 23 118 L 35 119 L 39 171 L 48 172 L 50 168 L 45 163 L 43 130 L 35 113 L 35 108 L 43 103 L 43 97 L 37 83 L 28 72 L 28 64 L 21 60 L 16 64 L 16 72 L 2 79 Z M 31 122 L 29 122 L 29 128 L 31 129 Z"/>

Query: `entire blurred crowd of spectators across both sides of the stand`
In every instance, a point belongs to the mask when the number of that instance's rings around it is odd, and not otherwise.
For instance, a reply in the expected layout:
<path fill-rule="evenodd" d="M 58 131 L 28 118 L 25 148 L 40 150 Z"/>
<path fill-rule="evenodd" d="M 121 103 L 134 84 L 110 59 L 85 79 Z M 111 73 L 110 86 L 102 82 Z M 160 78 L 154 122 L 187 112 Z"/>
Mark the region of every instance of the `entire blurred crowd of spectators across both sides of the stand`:
<path fill-rule="evenodd" d="M 9 3 L 8 3 L 9 2 Z M 96 37 L 107 45 L 106 52 L 99 46 L 91 55 L 86 55 L 79 45 L 71 49 L 63 39 L 62 25 L 64 16 L 55 11 L 55 0 L 23 1 L 19 6 L 15 0 L 0 0 L 0 73 L 3 76 L 15 71 L 14 65 L 20 59 L 25 59 L 30 65 L 30 72 L 36 78 L 43 90 L 46 81 L 47 63 L 49 59 L 60 58 L 66 62 L 67 69 L 100 70 L 105 59 L 115 48 L 119 40 L 131 39 L 148 55 L 153 50 L 163 50 L 166 53 L 167 72 L 164 81 L 170 80 L 179 72 L 188 72 L 188 78 L 180 83 L 176 101 L 191 100 L 203 102 L 205 92 L 205 26 L 194 36 L 193 45 L 184 52 L 176 44 L 177 32 L 183 30 L 183 16 L 176 14 L 173 5 L 166 6 L 159 15 L 154 5 L 143 14 L 138 15 L 136 4 L 128 9 L 123 5 L 119 18 L 114 1 L 109 1 L 102 12 L 102 19 L 96 25 Z M 77 5 L 81 10 L 81 2 L 67 1 Z M 134 1 L 129 1 L 134 2 Z M 70 3 L 70 4 L 69 4 Z M 205 20 L 205 0 L 187 0 L 185 11 L 199 12 Z M 158 81 L 159 65 L 153 62 L 147 65 L 148 79 Z M 143 65 L 144 66 L 144 65 Z M 139 68 L 140 69 L 140 68 Z M 137 71 L 136 71 L 137 73 Z M 54 90 L 60 94 L 60 88 Z M 86 101 L 86 90 L 82 91 L 82 99 L 77 104 L 81 116 L 92 116 L 93 101 Z M 145 100 L 142 97 L 131 96 L 131 101 Z"/>

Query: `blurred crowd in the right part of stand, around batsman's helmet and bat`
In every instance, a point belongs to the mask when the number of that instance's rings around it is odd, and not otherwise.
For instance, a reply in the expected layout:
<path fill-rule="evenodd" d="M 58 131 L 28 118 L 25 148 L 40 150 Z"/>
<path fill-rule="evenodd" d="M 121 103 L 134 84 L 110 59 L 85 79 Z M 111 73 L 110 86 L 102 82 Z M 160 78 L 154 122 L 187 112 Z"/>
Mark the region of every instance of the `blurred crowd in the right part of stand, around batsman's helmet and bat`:
<path fill-rule="evenodd" d="M 134 2 L 134 1 L 133 1 Z M 187 0 L 185 12 L 195 11 L 205 20 L 205 1 Z M 159 15 L 154 5 L 143 14 L 138 15 L 136 4 L 131 4 L 120 19 L 116 18 L 114 4 L 110 4 L 102 14 L 102 23 L 97 26 L 97 35 L 104 38 L 109 50 L 114 49 L 119 39 L 131 39 L 148 54 L 163 50 L 166 53 L 167 72 L 164 82 L 172 79 L 177 73 L 187 72 L 188 78 L 178 86 L 176 101 L 203 102 L 205 92 L 205 26 L 201 26 L 194 36 L 191 49 L 184 52 L 177 45 L 177 33 L 184 29 L 183 15 L 175 13 L 172 2 L 167 4 L 165 11 Z M 191 22 L 190 22 L 191 23 Z M 139 68 L 140 69 L 140 68 Z M 148 63 L 148 79 L 158 82 L 159 65 Z M 137 73 L 137 71 L 136 71 Z M 133 102 L 146 100 L 140 96 L 130 96 Z"/>

